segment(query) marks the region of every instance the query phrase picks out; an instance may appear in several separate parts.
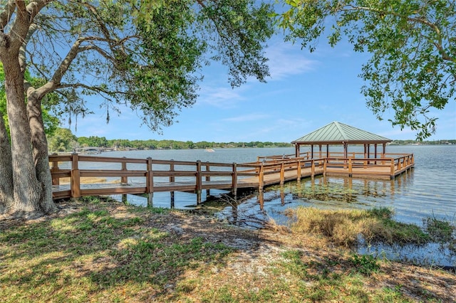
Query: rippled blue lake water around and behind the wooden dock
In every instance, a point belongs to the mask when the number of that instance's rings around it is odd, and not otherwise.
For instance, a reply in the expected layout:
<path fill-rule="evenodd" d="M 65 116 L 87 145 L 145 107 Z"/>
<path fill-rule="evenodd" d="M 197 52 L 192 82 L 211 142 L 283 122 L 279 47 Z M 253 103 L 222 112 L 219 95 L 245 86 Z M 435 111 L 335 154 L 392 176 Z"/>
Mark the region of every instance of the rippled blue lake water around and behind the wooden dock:
<path fill-rule="evenodd" d="M 359 149 L 359 150 L 358 150 Z M 362 147 L 349 147 L 349 151 L 361 151 Z M 301 151 L 304 151 L 301 149 Z M 330 147 L 330 151 L 339 151 Z M 435 217 L 456 223 L 456 145 L 418 145 L 388 146 L 388 153 L 413 153 L 415 168 L 394 180 L 350 179 L 343 177 L 316 177 L 303 179 L 301 186 L 330 186 L 332 188 L 351 188 L 350 198 L 334 196 L 325 201 L 318 197 L 299 197 L 294 188 L 296 182 L 286 184 L 284 188 L 266 188 L 264 192 L 264 211 L 259 209 L 258 197 L 252 195 L 242 204 L 221 208 L 217 216 L 228 220 L 242 218 L 273 218 L 278 223 L 286 224 L 288 218 L 283 212 L 286 208 L 297 206 L 315 206 L 318 208 L 373 208 L 388 207 L 395 212 L 395 220 L 404 223 L 423 224 L 423 219 Z M 222 163 L 243 163 L 256 161 L 257 156 L 294 154 L 294 148 L 264 149 L 215 149 L 207 152 L 202 149 L 190 150 L 153 150 L 153 151 L 112 151 L 100 156 L 126 156 L 128 158 L 175 159 L 183 161 L 211 161 Z M 210 191 L 211 195 L 227 193 Z M 204 201 L 203 191 L 203 201 Z M 130 198 L 129 198 L 130 201 Z M 133 203 L 145 203 L 136 200 Z M 152 203 L 157 207 L 170 207 L 170 193 L 154 193 Z M 192 193 L 175 193 L 175 208 L 204 208 L 196 204 L 196 195 Z M 211 206 L 212 207 L 212 206 Z M 408 260 L 421 263 L 437 263 L 456 266 L 452 252 L 438 245 L 426 248 L 398 248 L 392 250 L 384 247 L 371 247 L 368 252 L 387 255 L 390 259 L 407 256 Z M 388 250 L 388 251 L 386 251 Z"/>

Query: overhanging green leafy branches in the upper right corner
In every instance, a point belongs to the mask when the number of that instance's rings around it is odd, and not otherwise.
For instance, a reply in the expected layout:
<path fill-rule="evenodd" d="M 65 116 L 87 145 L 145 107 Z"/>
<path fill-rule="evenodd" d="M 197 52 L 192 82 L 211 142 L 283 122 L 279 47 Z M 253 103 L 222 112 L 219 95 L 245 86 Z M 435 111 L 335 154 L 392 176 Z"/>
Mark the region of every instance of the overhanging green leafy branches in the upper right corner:
<path fill-rule="evenodd" d="M 432 110 L 455 102 L 456 3 L 436 0 L 285 0 L 279 15 L 287 38 L 316 49 L 329 31 L 331 46 L 343 36 L 372 57 L 363 65 L 361 91 L 378 119 L 389 109 L 393 126 L 418 139 L 435 132 Z"/>

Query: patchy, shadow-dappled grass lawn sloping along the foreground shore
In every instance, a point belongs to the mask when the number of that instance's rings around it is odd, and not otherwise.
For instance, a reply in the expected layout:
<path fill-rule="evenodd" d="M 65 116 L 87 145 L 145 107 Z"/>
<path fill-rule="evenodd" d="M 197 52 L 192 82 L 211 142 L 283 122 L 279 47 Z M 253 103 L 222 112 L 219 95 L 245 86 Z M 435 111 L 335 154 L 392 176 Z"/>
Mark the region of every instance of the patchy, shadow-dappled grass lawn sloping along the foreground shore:
<path fill-rule="evenodd" d="M 1 302 L 456 298 L 451 272 L 356 255 L 323 233 L 274 225 L 247 230 L 94 198 L 60 206 L 38 220 L 0 219 Z"/>

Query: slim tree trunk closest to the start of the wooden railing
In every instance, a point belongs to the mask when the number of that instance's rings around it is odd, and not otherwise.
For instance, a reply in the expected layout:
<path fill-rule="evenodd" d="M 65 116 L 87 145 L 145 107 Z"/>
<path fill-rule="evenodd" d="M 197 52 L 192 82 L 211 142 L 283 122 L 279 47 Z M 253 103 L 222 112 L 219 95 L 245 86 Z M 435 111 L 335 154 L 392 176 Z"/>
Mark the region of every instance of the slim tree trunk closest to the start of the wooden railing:
<path fill-rule="evenodd" d="M 31 144 L 35 161 L 36 178 L 40 182 L 40 206 L 44 213 L 56 211 L 56 204 L 52 200 L 52 176 L 49 168 L 48 142 L 44 132 L 43 116 L 41 115 L 41 99 L 33 93 L 27 97 L 28 124 L 31 130 Z"/>

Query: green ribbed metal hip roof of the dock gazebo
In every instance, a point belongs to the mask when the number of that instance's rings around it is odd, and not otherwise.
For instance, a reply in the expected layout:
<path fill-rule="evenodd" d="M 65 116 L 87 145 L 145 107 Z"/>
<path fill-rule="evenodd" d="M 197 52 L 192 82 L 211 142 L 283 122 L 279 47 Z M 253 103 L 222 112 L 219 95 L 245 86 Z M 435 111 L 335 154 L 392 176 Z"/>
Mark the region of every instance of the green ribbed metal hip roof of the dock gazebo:
<path fill-rule="evenodd" d="M 387 143 L 393 140 L 366 132 L 341 122 L 331 122 L 304 137 L 294 140 L 293 144 L 351 144 Z"/>

